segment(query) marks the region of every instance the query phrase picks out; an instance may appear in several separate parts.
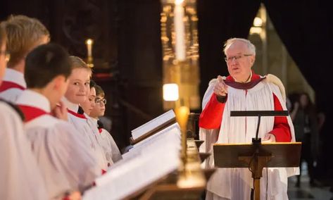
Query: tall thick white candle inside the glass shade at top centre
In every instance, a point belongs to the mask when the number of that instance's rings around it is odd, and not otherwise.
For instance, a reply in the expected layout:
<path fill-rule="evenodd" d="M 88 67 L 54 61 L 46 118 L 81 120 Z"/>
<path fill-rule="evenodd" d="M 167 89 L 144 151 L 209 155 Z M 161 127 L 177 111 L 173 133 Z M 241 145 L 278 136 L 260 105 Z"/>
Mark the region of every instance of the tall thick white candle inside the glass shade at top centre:
<path fill-rule="evenodd" d="M 174 24 L 175 24 L 175 53 L 178 61 L 185 60 L 185 31 L 184 31 L 184 8 L 182 2 L 184 0 L 175 0 L 175 10 L 174 10 Z"/>

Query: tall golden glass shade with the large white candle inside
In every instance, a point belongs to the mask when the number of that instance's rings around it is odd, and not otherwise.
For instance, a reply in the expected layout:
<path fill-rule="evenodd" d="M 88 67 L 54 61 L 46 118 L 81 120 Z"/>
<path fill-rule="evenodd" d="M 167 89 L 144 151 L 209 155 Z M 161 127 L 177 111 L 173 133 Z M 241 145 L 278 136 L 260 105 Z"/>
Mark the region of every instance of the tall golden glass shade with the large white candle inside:
<path fill-rule="evenodd" d="M 163 83 L 176 83 L 179 99 L 190 109 L 200 107 L 199 42 L 196 0 L 161 0 Z M 163 108 L 176 107 L 163 101 Z"/>

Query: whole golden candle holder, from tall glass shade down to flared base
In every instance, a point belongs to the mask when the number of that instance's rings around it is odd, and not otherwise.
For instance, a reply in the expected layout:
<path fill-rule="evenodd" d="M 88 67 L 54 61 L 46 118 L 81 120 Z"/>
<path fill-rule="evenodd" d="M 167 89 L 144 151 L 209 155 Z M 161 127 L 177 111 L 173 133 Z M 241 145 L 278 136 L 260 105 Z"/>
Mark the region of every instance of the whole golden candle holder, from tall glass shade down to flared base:
<path fill-rule="evenodd" d="M 182 134 L 177 187 L 204 189 L 206 179 L 199 152 L 194 139 L 187 138 L 189 110 L 200 107 L 196 0 L 161 0 L 161 3 L 163 83 L 175 83 L 179 87 L 177 101 L 163 101 L 165 110 L 175 109 Z"/>

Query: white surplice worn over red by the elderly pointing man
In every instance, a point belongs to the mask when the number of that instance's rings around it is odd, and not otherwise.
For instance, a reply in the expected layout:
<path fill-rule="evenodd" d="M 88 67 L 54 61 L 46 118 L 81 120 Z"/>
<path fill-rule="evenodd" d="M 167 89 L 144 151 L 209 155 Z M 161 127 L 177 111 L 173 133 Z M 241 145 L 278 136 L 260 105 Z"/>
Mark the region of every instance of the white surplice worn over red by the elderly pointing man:
<path fill-rule="evenodd" d="M 203 97 L 203 108 L 213 94 L 214 81 Z M 287 110 L 285 101 L 277 85 L 263 80 L 251 89 L 236 89 L 228 87 L 228 99 L 222 115 L 220 130 L 200 129 L 200 137 L 205 140 L 201 151 L 213 153 L 212 145 L 216 143 L 234 144 L 251 143 L 256 135 L 256 117 L 230 117 L 230 111 L 274 111 L 273 95 L 277 96 L 284 110 Z M 295 142 L 294 126 L 291 118 L 287 117 L 291 130 L 291 141 Z M 260 121 L 259 137 L 264 137 L 274 126 L 274 117 L 263 117 Z M 244 134 L 246 133 L 246 134 Z M 206 162 L 206 167 L 214 167 L 213 156 Z M 263 169 L 263 177 L 260 179 L 260 198 L 288 199 L 287 177 L 299 173 L 298 168 L 266 168 Z M 268 176 L 267 176 L 268 175 Z M 236 187 L 237 186 L 237 187 Z M 266 186 L 268 186 L 266 188 Z M 253 179 L 247 168 L 218 168 L 208 181 L 207 190 L 221 199 L 250 199 Z M 218 199 L 218 198 L 217 198 Z"/>

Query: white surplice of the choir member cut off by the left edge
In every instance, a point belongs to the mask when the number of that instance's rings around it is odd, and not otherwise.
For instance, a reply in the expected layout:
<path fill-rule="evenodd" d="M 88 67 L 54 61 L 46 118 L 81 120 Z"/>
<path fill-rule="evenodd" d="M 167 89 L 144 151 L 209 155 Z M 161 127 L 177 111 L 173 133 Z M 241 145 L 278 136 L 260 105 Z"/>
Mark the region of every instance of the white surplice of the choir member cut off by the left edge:
<path fill-rule="evenodd" d="M 47 199 L 44 180 L 23 123 L 11 106 L 0 101 L 0 199 Z"/>

